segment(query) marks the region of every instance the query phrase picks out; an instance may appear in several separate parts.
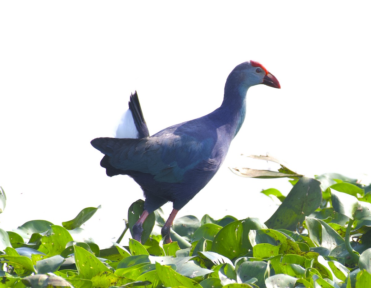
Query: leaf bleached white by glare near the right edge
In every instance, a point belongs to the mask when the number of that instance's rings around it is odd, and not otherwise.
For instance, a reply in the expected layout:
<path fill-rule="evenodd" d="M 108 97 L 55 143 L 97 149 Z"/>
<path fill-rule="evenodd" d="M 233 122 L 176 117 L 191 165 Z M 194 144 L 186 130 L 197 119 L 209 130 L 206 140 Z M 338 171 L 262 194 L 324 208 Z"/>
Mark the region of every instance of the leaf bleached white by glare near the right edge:
<path fill-rule="evenodd" d="M 331 201 L 336 212 L 354 220 L 354 213 L 358 209 L 358 199 L 355 196 L 331 190 Z"/>

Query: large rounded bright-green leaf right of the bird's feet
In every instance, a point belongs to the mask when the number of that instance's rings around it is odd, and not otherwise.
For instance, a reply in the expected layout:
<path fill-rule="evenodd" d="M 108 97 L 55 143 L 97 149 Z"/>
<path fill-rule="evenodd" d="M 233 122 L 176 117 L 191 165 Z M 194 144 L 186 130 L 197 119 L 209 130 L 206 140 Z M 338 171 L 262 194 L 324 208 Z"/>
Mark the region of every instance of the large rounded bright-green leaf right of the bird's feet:
<path fill-rule="evenodd" d="M 224 226 L 215 236 L 211 251 L 229 259 L 246 254 L 252 245 L 249 241 L 250 229 L 261 229 L 266 226 L 257 218 L 246 218 Z"/>

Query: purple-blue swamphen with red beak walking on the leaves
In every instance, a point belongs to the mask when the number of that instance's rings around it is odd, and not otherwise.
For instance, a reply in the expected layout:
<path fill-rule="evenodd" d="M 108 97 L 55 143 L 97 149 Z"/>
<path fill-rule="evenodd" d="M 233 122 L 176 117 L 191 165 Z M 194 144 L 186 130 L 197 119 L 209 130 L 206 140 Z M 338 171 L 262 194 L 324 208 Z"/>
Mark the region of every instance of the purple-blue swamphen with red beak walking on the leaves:
<path fill-rule="evenodd" d="M 91 141 L 105 155 L 101 166 L 108 176 L 129 175 L 143 191 L 144 210 L 132 227 L 135 240 L 141 242 L 147 216 L 173 202 L 173 210 L 161 228 L 164 242 L 172 242 L 170 228 L 175 216 L 219 170 L 245 119 L 247 90 L 259 84 L 280 88 L 277 78 L 262 64 L 253 60 L 243 62 L 227 77 L 219 108 L 152 136 L 135 93 L 131 95 L 129 110 L 138 131 L 136 137 L 102 137 Z"/>

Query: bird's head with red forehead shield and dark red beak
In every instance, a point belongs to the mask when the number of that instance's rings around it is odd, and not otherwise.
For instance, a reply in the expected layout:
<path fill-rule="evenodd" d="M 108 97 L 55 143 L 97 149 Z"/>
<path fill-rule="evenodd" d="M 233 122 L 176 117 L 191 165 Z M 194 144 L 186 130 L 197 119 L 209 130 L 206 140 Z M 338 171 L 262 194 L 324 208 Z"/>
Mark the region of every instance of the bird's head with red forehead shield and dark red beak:
<path fill-rule="evenodd" d="M 262 64 L 253 60 L 237 65 L 230 73 L 230 77 L 247 89 L 258 84 L 281 88 L 277 78 L 269 73 Z"/>

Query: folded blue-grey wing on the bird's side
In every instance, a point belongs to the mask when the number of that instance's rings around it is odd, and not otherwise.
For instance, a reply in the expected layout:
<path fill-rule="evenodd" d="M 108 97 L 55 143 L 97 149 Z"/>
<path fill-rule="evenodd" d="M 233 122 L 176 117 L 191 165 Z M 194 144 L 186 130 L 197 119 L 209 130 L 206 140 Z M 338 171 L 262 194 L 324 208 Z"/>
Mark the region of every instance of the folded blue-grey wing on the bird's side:
<path fill-rule="evenodd" d="M 109 157 L 112 167 L 148 173 L 168 183 L 182 182 L 184 173 L 209 159 L 213 149 L 211 139 L 173 133 L 143 139 L 96 138 L 91 143 Z"/>

